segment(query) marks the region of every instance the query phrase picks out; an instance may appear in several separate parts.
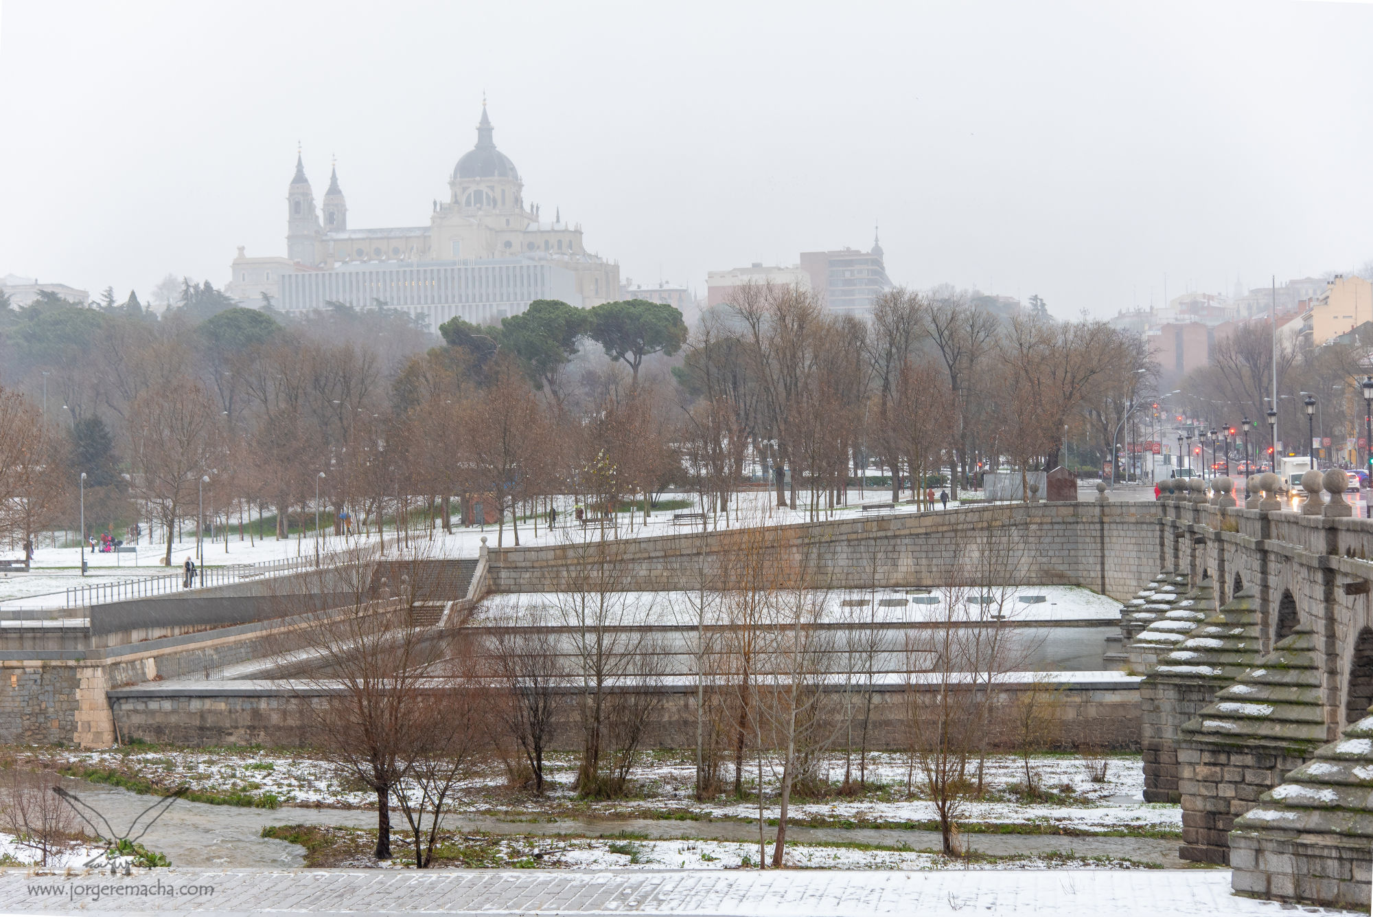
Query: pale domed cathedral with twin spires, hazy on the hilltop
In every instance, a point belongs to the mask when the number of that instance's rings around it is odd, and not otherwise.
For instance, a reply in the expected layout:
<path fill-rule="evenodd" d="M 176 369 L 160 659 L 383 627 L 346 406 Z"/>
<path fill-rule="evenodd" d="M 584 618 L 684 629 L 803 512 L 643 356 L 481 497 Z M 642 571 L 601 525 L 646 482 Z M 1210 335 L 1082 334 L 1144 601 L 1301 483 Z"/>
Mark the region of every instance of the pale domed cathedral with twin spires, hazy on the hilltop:
<path fill-rule="evenodd" d="M 448 200 L 434 200 L 427 225 L 351 229 L 338 169 L 316 206 L 303 156 L 287 188 L 286 257 L 249 257 L 239 248 L 225 286 L 235 299 L 284 312 L 384 303 L 431 331 L 453 317 L 498 321 L 534 299 L 590 307 L 619 295 L 619 265 L 586 251 L 582 228 L 562 213 L 542 220 L 524 183 L 496 148 L 482 104 L 476 146 L 448 178 Z"/>

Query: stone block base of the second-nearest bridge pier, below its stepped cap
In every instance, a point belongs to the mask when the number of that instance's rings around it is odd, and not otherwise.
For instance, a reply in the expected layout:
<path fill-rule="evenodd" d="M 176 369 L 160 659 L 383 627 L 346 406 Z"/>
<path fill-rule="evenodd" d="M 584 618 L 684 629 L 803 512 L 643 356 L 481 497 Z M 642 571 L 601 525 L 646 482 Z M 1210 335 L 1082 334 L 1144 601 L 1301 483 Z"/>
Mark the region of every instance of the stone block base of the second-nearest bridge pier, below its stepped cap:
<path fill-rule="evenodd" d="M 1177 758 L 1182 803 L 1182 847 L 1178 855 L 1216 865 L 1229 862 L 1234 820 L 1254 809 L 1259 796 L 1306 762 L 1282 748 L 1188 739 L 1178 741 Z"/>

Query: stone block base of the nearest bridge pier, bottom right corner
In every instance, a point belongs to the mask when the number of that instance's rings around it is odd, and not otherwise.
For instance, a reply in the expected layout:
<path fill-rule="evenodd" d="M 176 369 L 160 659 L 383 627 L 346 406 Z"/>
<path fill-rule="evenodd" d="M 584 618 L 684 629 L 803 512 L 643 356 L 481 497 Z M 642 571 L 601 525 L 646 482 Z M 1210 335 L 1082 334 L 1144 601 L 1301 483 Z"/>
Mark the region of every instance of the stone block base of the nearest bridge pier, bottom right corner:
<path fill-rule="evenodd" d="M 1366 912 L 1373 850 L 1236 831 L 1230 835 L 1232 888 L 1241 895 Z"/>

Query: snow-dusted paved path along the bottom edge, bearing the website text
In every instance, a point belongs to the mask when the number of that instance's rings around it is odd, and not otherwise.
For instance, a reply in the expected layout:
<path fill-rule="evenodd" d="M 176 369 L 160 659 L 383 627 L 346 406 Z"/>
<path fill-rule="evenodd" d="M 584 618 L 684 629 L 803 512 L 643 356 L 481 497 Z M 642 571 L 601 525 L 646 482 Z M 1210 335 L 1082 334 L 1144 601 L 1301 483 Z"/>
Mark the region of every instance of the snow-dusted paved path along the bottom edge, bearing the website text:
<path fill-rule="evenodd" d="M 40 887 L 49 892 L 43 894 Z M 202 891 L 189 894 L 188 887 Z M 1277 917 L 1282 909 L 1273 902 L 1233 896 L 1227 870 L 416 873 L 162 869 L 128 879 L 67 879 L 36 877 L 8 869 L 0 872 L 0 912 Z M 1303 909 L 1303 913 L 1348 912 Z"/>

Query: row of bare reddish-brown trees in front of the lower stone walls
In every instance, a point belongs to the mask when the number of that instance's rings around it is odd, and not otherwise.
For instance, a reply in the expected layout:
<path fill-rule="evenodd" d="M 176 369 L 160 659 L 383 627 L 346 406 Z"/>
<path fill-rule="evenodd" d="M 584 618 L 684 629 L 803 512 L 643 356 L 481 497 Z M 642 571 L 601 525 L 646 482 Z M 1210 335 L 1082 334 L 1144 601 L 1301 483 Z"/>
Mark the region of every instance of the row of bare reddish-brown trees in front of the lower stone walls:
<path fill-rule="evenodd" d="M 351 582 L 342 592 L 353 603 L 317 611 L 302 599 L 308 623 L 277 649 L 313 744 L 376 793 L 376 855 L 390 858 L 400 809 L 426 865 L 445 807 L 497 761 L 542 795 L 546 752 L 577 748 L 581 796 L 626 795 L 645 751 L 680 741 L 692 719 L 696 795 L 757 802 L 761 863 L 784 863 L 794 796 L 857 789 L 877 747 L 905 752 L 906 792 L 934 800 L 946 851 L 957 852 L 956 825 L 982 791 L 989 752 L 1038 750 L 1057 732 L 1042 692 L 1001 690 L 1034 649 L 1012 626 L 1012 590 L 993 585 L 1016 563 L 1012 535 L 965 533 L 964 561 L 934 590 L 946 619 L 905 630 L 881 626 L 875 590 L 846 592 L 836 610 L 821 545 L 766 524 L 718 538 L 696 590 L 647 605 L 623 592 L 625 542 L 567 541 L 556 592 L 439 630 L 416 615 L 423 550 L 404 555 L 406 575 L 393 563 L 380 590 L 367 563 L 319 574 L 319 590 L 335 596 Z M 836 752 L 839 787 L 825 769 Z"/>

